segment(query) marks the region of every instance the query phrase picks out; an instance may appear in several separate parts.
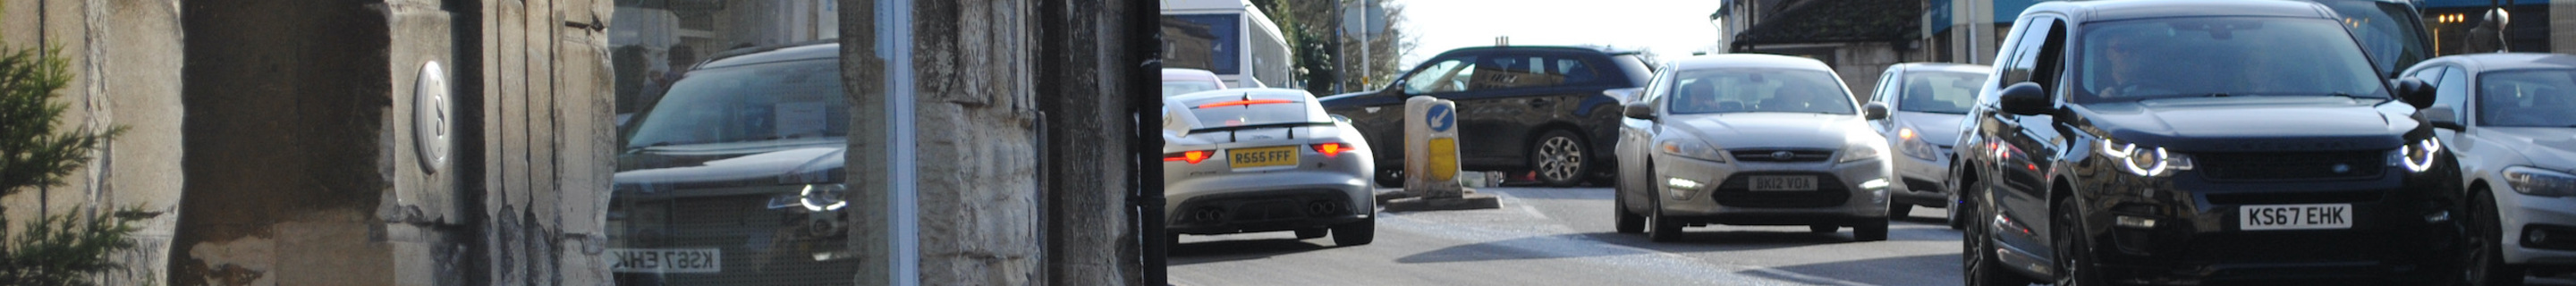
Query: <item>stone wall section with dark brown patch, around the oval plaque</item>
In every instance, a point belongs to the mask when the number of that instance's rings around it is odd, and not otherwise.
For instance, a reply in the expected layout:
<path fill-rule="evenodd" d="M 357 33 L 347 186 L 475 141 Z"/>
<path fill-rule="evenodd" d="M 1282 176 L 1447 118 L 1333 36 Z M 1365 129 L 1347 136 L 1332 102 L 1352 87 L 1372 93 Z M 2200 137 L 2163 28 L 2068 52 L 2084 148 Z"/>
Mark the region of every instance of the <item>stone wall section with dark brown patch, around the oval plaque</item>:
<path fill-rule="evenodd" d="M 605 283 L 608 5 L 185 3 L 170 283 Z M 430 62 L 448 116 L 415 106 Z"/>

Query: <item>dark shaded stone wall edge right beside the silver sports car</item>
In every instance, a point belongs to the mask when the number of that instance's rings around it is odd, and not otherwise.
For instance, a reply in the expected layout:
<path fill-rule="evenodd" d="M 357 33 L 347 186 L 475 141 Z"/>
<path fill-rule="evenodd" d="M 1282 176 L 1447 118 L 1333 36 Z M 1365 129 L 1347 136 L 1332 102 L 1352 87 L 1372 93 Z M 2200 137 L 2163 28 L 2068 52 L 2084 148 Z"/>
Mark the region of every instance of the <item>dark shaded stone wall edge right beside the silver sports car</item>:
<path fill-rule="evenodd" d="M 1159 15 L 1126 10 L 1123 3 L 1038 0 L 1038 90 L 1046 111 L 1041 167 L 1046 188 L 1046 283 L 1118 286 L 1136 281 L 1136 234 L 1128 232 L 1133 204 L 1126 201 L 1133 155 L 1128 100 L 1151 88 L 1126 85 L 1136 64 L 1121 64 L 1128 28 L 1121 18 Z M 1159 178 L 1144 178 L 1159 180 Z"/>

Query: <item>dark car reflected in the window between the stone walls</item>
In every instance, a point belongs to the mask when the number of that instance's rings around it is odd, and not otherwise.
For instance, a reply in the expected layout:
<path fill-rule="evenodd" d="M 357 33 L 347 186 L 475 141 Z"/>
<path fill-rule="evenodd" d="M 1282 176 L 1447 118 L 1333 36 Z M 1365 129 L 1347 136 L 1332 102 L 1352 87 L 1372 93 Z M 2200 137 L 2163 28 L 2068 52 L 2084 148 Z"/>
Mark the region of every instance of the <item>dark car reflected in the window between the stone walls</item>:
<path fill-rule="evenodd" d="M 840 44 L 714 59 L 623 129 L 605 263 L 621 286 L 848 281 Z"/>

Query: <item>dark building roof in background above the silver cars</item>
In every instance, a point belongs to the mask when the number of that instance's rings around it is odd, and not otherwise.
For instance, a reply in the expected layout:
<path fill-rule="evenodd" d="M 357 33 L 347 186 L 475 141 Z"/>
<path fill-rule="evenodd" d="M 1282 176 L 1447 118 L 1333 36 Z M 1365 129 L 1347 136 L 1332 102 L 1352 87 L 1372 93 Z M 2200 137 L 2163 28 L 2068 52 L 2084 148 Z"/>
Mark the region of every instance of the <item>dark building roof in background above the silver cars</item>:
<path fill-rule="evenodd" d="M 1762 18 L 1734 44 L 1896 41 L 1922 31 L 1922 0 L 1806 0 Z"/>

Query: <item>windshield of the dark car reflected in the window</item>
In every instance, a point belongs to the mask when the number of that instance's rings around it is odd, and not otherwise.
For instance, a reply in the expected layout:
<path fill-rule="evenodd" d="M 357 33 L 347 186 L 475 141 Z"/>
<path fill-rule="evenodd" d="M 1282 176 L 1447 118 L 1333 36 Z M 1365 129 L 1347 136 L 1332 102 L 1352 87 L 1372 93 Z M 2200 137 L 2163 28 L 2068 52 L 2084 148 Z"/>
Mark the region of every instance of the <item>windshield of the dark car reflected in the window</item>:
<path fill-rule="evenodd" d="M 696 70 L 639 119 L 626 147 L 848 137 L 837 59 Z"/>

